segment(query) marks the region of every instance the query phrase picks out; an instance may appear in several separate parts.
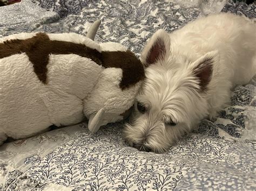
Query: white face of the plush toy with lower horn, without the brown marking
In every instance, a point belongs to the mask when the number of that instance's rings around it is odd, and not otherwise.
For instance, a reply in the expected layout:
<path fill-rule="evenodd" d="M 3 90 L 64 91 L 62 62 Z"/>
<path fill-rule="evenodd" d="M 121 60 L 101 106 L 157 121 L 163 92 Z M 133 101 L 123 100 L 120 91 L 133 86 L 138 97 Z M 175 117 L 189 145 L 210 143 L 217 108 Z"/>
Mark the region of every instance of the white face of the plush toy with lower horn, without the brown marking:
<path fill-rule="evenodd" d="M 89 119 L 88 128 L 97 132 L 100 126 L 122 121 L 129 110 L 142 82 L 122 90 L 122 69 L 106 68 L 100 75 L 95 89 L 84 99 L 84 114 Z"/>

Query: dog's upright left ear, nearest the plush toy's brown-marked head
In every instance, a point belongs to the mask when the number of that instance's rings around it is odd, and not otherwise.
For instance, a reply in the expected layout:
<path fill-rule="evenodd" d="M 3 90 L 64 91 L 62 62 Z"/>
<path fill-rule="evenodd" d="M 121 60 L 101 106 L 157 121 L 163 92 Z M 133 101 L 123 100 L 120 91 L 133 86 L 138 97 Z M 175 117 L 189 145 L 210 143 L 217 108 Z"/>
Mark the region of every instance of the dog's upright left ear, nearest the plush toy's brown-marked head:
<path fill-rule="evenodd" d="M 153 34 L 149 42 L 143 48 L 140 59 L 145 67 L 164 60 L 170 52 L 170 37 L 167 32 L 160 29 Z"/>

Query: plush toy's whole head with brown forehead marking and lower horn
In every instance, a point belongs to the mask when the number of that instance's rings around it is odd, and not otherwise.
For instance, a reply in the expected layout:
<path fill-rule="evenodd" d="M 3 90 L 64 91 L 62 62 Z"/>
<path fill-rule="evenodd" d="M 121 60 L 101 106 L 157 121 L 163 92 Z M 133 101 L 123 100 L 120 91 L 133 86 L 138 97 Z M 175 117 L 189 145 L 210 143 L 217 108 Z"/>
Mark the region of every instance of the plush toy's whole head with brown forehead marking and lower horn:
<path fill-rule="evenodd" d="M 84 115 L 89 119 L 91 132 L 129 116 L 145 77 L 142 63 L 125 46 L 102 43 L 100 50 L 103 71 L 95 88 L 83 101 Z"/>

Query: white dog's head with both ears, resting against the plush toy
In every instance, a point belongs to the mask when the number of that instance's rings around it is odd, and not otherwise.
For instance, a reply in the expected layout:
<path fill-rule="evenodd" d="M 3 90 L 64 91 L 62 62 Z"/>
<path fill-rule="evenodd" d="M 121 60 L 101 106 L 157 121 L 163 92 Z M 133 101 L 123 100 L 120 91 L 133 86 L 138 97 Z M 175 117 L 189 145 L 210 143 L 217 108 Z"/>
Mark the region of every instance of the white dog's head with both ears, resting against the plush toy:
<path fill-rule="evenodd" d="M 205 91 L 214 52 L 196 61 L 172 53 L 169 34 L 157 31 L 141 54 L 146 79 L 124 136 L 140 151 L 164 152 L 207 115 Z"/>

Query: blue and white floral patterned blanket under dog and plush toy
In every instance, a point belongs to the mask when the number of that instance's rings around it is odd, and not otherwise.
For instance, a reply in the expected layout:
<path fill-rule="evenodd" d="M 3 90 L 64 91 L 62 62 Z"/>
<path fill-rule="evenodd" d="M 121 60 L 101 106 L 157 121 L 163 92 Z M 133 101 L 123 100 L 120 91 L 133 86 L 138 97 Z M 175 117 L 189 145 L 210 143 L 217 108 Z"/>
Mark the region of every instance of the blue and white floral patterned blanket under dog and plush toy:
<path fill-rule="evenodd" d="M 86 34 L 100 18 L 96 41 L 117 41 L 139 55 L 160 28 L 171 32 L 221 9 L 256 17 L 255 4 L 223 0 L 91 2 L 27 0 L 4 6 L 0 37 L 32 31 Z M 17 17 L 10 19 L 12 11 Z M 255 190 L 255 93 L 256 77 L 234 89 L 232 106 L 217 121 L 203 120 L 164 154 L 129 147 L 122 138 L 123 123 L 109 124 L 96 135 L 81 123 L 5 143 L 0 147 L 0 189 Z"/>

